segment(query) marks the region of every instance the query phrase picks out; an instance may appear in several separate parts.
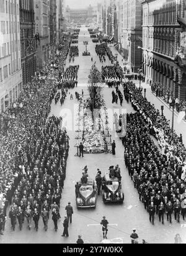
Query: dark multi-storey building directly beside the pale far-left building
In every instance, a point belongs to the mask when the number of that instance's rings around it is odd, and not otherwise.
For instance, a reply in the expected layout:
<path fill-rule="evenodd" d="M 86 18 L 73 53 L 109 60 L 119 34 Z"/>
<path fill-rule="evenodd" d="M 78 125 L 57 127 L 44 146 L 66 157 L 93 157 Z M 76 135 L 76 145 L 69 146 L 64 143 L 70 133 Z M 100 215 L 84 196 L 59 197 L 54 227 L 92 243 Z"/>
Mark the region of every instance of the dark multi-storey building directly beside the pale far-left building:
<path fill-rule="evenodd" d="M 36 71 L 35 19 L 33 0 L 19 0 L 20 52 L 23 85 L 31 81 Z"/>

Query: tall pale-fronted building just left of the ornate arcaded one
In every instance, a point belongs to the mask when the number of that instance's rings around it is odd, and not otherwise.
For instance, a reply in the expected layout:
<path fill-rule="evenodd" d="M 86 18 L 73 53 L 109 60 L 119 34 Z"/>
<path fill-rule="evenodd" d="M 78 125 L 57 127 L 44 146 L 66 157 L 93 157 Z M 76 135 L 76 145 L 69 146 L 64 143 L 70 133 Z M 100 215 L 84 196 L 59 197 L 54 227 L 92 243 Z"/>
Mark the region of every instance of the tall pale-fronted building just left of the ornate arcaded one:
<path fill-rule="evenodd" d="M 133 72 L 141 68 L 142 7 L 138 0 L 118 0 L 118 42 L 123 58 Z"/>

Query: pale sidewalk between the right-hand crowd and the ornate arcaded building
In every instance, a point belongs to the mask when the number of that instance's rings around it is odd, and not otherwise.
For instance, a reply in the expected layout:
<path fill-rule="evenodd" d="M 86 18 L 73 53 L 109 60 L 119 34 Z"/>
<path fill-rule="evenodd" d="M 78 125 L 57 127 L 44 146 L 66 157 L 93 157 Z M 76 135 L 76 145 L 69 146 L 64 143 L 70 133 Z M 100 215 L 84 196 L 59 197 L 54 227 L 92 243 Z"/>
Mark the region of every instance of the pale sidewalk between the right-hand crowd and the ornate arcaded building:
<path fill-rule="evenodd" d="M 120 55 L 120 53 L 115 49 L 114 46 L 110 46 L 110 49 L 113 52 L 113 55 L 115 55 L 115 53 L 118 53 L 118 63 L 120 64 L 120 66 L 123 67 L 123 62 L 122 62 L 122 55 Z M 139 81 L 138 80 L 133 80 L 134 83 L 136 85 L 139 85 Z M 172 127 L 172 108 L 169 109 L 169 105 L 166 104 L 163 99 L 161 98 L 157 98 L 156 95 L 151 91 L 151 87 L 149 85 L 147 85 L 146 83 L 141 83 L 141 87 L 146 88 L 146 98 L 148 99 L 149 102 L 151 102 L 151 104 L 154 104 L 154 106 L 156 107 L 156 109 L 159 109 L 159 111 L 161 112 L 161 106 L 164 105 L 164 116 L 166 116 L 167 120 L 170 121 L 170 127 Z M 143 96 L 144 96 L 144 90 L 143 90 Z M 184 119 L 182 119 L 181 122 L 177 122 L 179 113 L 178 112 L 174 112 L 174 130 L 177 133 L 177 135 L 182 134 L 183 137 L 183 143 L 186 147 L 186 121 Z"/>

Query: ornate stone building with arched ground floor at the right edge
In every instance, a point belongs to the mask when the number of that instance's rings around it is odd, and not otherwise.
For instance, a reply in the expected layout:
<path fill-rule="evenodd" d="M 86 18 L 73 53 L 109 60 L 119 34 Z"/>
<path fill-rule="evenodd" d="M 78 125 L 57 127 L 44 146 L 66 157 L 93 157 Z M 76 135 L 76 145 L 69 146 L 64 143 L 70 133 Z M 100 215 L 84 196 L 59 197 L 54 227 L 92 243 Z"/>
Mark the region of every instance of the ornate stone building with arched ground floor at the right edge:
<path fill-rule="evenodd" d="M 184 0 L 143 4 L 143 63 L 146 82 L 160 83 L 186 99 L 186 5 Z"/>

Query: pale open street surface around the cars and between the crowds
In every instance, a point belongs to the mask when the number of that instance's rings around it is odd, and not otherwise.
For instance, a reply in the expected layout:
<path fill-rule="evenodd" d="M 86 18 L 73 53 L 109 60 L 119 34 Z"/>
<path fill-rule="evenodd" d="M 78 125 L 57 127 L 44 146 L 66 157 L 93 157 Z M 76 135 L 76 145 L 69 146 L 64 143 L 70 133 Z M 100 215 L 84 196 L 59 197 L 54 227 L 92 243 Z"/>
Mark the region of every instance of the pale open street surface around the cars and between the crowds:
<path fill-rule="evenodd" d="M 85 50 L 85 45 L 83 45 L 83 41 L 88 40 L 89 45 L 87 50 L 91 52 L 91 57 L 83 57 L 82 52 Z M 79 73 L 78 73 L 78 88 L 75 88 L 70 91 L 73 95 L 75 95 L 75 91 L 81 93 L 81 90 L 84 90 L 84 97 L 86 98 L 87 93 L 87 81 L 88 76 L 91 70 L 92 62 L 91 58 L 93 57 L 94 62 L 96 62 L 97 68 L 101 71 L 102 65 L 111 65 L 108 57 L 106 58 L 105 63 L 99 62 L 99 57 L 97 57 L 95 53 L 95 43 L 92 43 L 92 39 L 89 36 L 89 32 L 86 27 L 82 27 L 81 32 L 79 34 L 79 57 L 75 57 L 74 63 L 69 63 L 69 57 L 66 61 L 66 66 L 69 65 L 79 65 Z M 114 55 L 114 54 L 113 54 Z M 120 63 L 122 65 L 122 63 Z M 144 85 L 143 85 L 144 87 Z M 152 104 L 156 106 L 157 109 L 160 109 L 162 103 L 157 99 L 152 93 L 151 88 L 146 86 L 147 88 L 147 98 L 151 101 Z M 122 91 L 122 89 L 121 89 Z M 123 91 L 122 91 L 123 93 Z M 112 89 L 108 89 L 107 86 L 104 87 L 104 99 L 108 109 L 114 109 L 112 104 Z M 66 98 L 63 107 L 61 107 L 60 102 L 55 105 L 53 101 L 51 106 L 50 116 L 65 116 L 66 113 L 72 113 L 72 120 L 76 121 L 76 116 L 74 114 L 74 105 L 78 104 L 77 99 L 74 96 L 74 99 L 70 99 L 70 95 Z M 118 105 L 118 107 L 120 107 Z M 126 101 L 123 101 L 123 109 L 126 109 L 127 112 L 133 112 L 133 108 L 131 104 L 127 104 Z M 114 112 L 114 111 L 113 111 Z M 171 111 L 165 107 L 164 114 L 167 119 L 171 120 Z M 69 116 L 68 116 L 69 119 Z M 6 231 L 4 235 L 0 237 L 1 243 L 43 243 L 43 244 L 72 244 L 76 243 L 78 239 L 78 235 L 82 235 L 82 239 L 85 243 L 102 243 L 102 227 L 99 225 L 102 217 L 105 215 L 109 224 L 114 224 L 113 226 L 108 227 L 108 240 L 107 242 L 114 242 L 113 239 L 119 240 L 122 243 L 130 244 L 130 234 L 132 233 L 132 229 L 136 228 L 136 233 L 139 235 L 139 243 L 141 244 L 142 239 L 145 239 L 147 242 L 151 244 L 172 244 L 174 243 L 175 234 L 179 233 L 182 237 L 183 242 L 186 242 L 186 222 L 180 218 L 180 224 L 172 221 L 172 224 L 165 221 L 164 226 L 159 222 L 157 216 L 155 219 L 155 225 L 153 226 L 149 223 L 149 214 L 144 209 L 143 203 L 139 201 L 138 193 L 134 188 L 133 181 L 131 181 L 130 176 L 128 175 L 128 170 L 125 167 L 124 162 L 124 147 L 119 138 L 115 136 L 115 130 L 112 130 L 111 135 L 112 139 L 116 141 L 116 155 L 102 153 L 102 154 L 86 154 L 84 158 L 74 157 L 77 152 L 75 147 L 76 145 L 76 123 L 73 122 L 73 129 L 68 129 L 69 125 L 64 121 L 63 126 L 66 126 L 67 132 L 69 135 L 69 157 L 66 168 L 66 180 L 64 183 L 64 190 L 61 199 L 61 220 L 58 222 L 58 232 L 55 232 L 53 221 L 48 222 L 48 231 L 45 232 L 43 229 L 42 218 L 40 218 L 39 229 L 36 232 L 33 228 L 29 231 L 27 229 L 27 224 L 24 224 L 24 228 L 22 231 L 19 231 L 18 225 L 16 226 L 15 231 L 11 229 L 11 223 L 9 218 L 7 217 L 6 222 Z M 113 124 L 110 124 L 113 126 Z M 181 124 L 177 124 L 175 121 L 175 130 L 178 134 L 183 134 L 184 143 L 186 145 L 186 134 L 184 134 L 184 130 L 186 127 L 186 123 L 182 121 Z M 121 168 L 122 175 L 122 189 L 125 194 L 124 203 L 115 205 L 105 205 L 102 202 L 102 196 L 99 196 L 97 200 L 96 209 L 81 209 L 78 210 L 76 208 L 76 196 L 75 196 L 75 184 L 77 181 L 81 179 L 82 169 L 87 165 L 88 173 L 91 178 L 95 178 L 97 173 L 97 168 L 102 171 L 102 176 L 104 175 L 104 171 L 108 170 L 110 165 L 119 165 Z M 71 202 L 71 205 L 74 209 L 73 214 L 73 224 L 69 224 L 69 237 L 64 238 L 61 237 L 63 232 L 63 219 L 66 215 L 65 206 L 68 205 L 68 202 Z"/>

